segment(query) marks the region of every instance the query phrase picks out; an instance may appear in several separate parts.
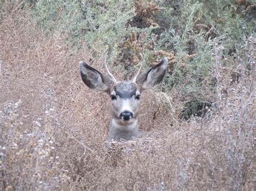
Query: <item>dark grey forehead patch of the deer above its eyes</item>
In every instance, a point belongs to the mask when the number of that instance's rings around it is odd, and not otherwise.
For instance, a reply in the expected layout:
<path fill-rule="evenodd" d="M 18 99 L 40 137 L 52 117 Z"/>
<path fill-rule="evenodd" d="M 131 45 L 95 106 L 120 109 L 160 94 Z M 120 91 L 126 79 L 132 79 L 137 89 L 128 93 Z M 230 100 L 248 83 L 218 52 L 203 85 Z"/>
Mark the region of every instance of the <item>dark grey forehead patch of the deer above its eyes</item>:
<path fill-rule="evenodd" d="M 121 98 L 131 98 L 139 94 L 137 84 L 132 81 L 122 81 L 114 85 L 112 93 Z"/>

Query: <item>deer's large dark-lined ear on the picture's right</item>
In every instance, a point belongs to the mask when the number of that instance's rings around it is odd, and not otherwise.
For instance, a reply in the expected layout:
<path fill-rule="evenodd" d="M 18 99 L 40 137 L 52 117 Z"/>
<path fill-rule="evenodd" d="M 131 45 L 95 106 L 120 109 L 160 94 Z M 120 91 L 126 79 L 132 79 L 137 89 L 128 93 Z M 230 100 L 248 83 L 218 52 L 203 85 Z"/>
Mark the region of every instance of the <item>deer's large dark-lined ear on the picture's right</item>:
<path fill-rule="evenodd" d="M 167 65 L 168 59 L 164 58 L 156 66 L 152 67 L 147 72 L 139 75 L 136 83 L 138 84 L 140 91 L 156 88 L 164 78 L 167 70 Z"/>

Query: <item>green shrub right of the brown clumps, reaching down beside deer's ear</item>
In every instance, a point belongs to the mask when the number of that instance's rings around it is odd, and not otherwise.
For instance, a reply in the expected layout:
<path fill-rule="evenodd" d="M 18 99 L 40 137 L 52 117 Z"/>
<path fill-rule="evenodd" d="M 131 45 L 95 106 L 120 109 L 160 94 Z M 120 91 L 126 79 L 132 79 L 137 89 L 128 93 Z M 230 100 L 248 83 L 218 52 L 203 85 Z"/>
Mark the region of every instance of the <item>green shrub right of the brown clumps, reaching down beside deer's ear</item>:
<path fill-rule="evenodd" d="M 156 20 L 163 32 L 156 48 L 174 50 L 177 60 L 165 82 L 184 101 L 180 117 L 201 115 L 215 101 L 214 46 L 223 46 L 223 57 L 230 59 L 252 33 L 253 22 L 245 22 L 245 5 L 232 1 L 161 1 L 159 6 L 164 9 Z"/>

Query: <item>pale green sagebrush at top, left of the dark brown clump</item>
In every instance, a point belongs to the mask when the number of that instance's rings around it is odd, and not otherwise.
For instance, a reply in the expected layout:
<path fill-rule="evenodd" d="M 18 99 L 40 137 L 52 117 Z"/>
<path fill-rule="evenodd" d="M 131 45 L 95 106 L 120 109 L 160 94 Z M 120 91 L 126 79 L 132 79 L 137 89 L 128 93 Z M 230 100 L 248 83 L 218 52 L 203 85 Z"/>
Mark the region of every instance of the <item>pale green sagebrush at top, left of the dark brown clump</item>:
<path fill-rule="evenodd" d="M 116 52 L 124 37 L 138 31 L 126 26 L 134 14 L 126 1 L 38 1 L 33 11 L 43 29 L 60 30 L 71 45 L 84 41 L 98 54 Z"/>

